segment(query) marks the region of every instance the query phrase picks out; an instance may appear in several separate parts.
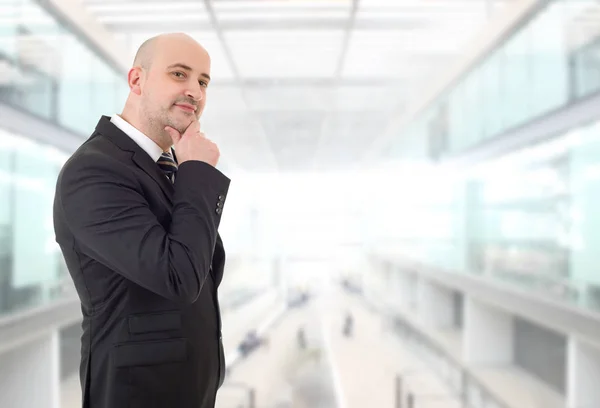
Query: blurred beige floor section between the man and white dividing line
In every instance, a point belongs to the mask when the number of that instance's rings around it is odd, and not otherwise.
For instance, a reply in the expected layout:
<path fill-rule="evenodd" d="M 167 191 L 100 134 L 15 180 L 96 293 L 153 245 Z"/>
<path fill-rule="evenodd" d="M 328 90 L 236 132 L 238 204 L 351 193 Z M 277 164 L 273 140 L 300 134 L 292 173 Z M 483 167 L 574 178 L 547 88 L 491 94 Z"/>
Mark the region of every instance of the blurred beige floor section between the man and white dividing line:
<path fill-rule="evenodd" d="M 300 327 L 306 333 L 304 349 L 297 343 Z M 321 329 L 316 304 L 291 309 L 270 332 L 268 345 L 231 370 L 219 392 L 217 408 L 248 406 L 247 392 L 240 390 L 239 385 L 254 389 L 257 408 L 335 406 Z"/>

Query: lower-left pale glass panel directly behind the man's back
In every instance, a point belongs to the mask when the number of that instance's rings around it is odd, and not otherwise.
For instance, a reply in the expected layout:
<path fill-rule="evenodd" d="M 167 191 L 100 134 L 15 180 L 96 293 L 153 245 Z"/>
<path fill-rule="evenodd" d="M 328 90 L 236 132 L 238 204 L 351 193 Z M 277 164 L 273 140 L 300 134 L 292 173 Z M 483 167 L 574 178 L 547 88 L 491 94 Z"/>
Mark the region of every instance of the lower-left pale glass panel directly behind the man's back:
<path fill-rule="evenodd" d="M 52 203 L 66 155 L 0 131 L 0 314 L 61 294 L 64 265 L 54 241 Z"/>

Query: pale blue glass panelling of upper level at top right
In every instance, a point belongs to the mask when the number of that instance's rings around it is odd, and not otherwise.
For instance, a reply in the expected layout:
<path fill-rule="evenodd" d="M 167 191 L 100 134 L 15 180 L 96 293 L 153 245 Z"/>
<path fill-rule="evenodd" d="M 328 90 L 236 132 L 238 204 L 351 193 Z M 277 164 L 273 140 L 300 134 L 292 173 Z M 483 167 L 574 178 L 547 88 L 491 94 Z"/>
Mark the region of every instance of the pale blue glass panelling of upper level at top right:
<path fill-rule="evenodd" d="M 438 158 L 498 137 L 600 90 L 595 0 L 544 0 L 508 38 L 420 112 L 395 155 Z M 411 148 L 427 140 L 422 151 Z M 421 144 L 426 146 L 425 144 Z"/>

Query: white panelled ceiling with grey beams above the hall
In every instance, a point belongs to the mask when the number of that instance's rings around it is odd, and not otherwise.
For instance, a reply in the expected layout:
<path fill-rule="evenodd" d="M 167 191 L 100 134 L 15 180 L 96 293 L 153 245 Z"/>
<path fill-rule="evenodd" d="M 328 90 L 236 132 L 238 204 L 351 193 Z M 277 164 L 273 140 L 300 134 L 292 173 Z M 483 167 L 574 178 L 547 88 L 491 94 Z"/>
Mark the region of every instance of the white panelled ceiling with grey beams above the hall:
<path fill-rule="evenodd" d="M 234 167 L 352 169 L 419 89 L 518 0 L 81 0 L 131 53 L 186 32 L 211 54 L 203 130 Z"/>

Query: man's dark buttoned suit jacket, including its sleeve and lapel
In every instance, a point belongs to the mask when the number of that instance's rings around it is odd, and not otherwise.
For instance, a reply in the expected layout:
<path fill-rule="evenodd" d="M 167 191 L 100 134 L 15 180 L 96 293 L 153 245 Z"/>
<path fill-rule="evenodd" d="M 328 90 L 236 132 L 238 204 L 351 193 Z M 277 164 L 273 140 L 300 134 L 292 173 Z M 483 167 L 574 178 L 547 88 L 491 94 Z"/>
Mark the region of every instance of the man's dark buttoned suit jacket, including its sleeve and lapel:
<path fill-rule="evenodd" d="M 106 116 L 65 163 L 54 228 L 81 299 L 84 408 L 214 406 L 229 183 L 187 161 L 171 184 Z"/>

